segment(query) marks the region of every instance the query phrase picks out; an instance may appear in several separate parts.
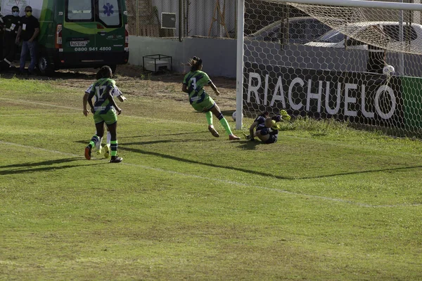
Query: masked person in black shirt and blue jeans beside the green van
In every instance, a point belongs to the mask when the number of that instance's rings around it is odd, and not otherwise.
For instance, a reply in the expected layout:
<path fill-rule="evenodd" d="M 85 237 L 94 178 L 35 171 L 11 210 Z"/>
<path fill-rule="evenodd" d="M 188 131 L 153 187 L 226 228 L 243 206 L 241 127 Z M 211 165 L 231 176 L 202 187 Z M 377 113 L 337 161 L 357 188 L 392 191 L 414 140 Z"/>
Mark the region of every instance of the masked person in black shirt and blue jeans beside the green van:
<path fill-rule="evenodd" d="M 22 39 L 22 51 L 20 52 L 20 72 L 25 72 L 25 61 L 28 51 L 31 55 L 31 63 L 28 67 L 29 74 L 33 74 L 37 63 L 37 36 L 39 34 L 39 21 L 32 15 L 31 6 L 25 7 L 25 15 L 20 18 L 20 27 L 16 36 L 18 44 Z"/>

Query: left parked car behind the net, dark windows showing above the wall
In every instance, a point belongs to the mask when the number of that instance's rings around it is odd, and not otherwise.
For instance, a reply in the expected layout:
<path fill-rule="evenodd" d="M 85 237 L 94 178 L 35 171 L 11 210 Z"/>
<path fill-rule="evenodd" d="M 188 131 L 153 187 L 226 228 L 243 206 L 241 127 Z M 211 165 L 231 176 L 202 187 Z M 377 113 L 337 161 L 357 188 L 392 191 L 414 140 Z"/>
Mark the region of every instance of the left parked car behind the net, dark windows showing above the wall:
<path fill-rule="evenodd" d="M 279 20 L 263 27 L 261 30 L 246 36 L 245 40 L 279 42 L 283 37 L 282 21 Z M 312 17 L 289 18 L 284 21 L 284 24 L 288 25 L 289 44 L 305 44 L 331 30 L 331 27 Z"/>

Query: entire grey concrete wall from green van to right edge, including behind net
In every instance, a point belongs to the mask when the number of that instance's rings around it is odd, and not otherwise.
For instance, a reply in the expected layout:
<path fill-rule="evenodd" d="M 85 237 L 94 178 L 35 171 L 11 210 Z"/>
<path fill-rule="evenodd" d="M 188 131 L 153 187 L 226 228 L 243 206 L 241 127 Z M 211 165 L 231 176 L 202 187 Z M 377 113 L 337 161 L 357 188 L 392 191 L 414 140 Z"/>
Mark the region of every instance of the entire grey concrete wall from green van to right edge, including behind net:
<path fill-rule="evenodd" d="M 236 40 L 212 38 L 160 39 L 153 37 L 129 38 L 129 63 L 142 65 L 143 55 L 171 55 L 173 71 L 188 72 L 184 66 L 189 58 L 197 55 L 203 59 L 204 71 L 216 77 L 236 78 Z M 365 72 L 367 51 L 343 48 L 319 48 L 304 45 L 286 45 L 271 42 L 248 41 L 245 56 L 248 61 L 262 65 L 315 70 Z M 404 72 L 399 72 L 399 55 L 388 52 L 387 62 L 396 69 L 396 74 L 422 77 L 422 55 L 404 54 Z"/>

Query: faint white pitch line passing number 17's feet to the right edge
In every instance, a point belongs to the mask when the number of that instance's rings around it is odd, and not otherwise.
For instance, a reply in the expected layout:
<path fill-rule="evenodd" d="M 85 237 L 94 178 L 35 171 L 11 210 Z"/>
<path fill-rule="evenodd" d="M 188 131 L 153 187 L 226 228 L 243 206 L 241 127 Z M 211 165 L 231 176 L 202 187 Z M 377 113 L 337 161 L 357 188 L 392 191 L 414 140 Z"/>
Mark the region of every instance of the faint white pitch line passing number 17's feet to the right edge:
<path fill-rule="evenodd" d="M 0 141 L 0 144 L 2 144 L 2 145 L 14 145 L 14 146 L 18 146 L 20 148 L 30 148 L 30 149 L 41 150 L 41 151 L 45 151 L 45 152 L 53 152 L 53 153 L 56 153 L 56 154 L 69 155 L 69 156 L 72 156 L 72 157 L 81 157 L 81 155 L 75 155 L 73 153 L 61 152 L 61 151 L 58 151 L 58 150 L 48 150 L 48 149 L 45 149 L 45 148 L 36 148 L 34 146 L 20 145 L 18 143 L 9 143 L 9 142 L 6 142 L 6 141 Z M 93 158 L 95 158 L 95 157 L 93 157 Z M 191 178 L 200 178 L 200 179 L 203 179 L 203 180 L 206 180 L 206 181 L 217 181 L 217 182 L 226 183 L 226 184 L 229 184 L 229 185 L 238 185 L 238 186 L 243 186 L 243 187 L 247 187 L 247 188 L 257 188 L 257 189 L 262 189 L 262 190 L 275 191 L 275 192 L 280 192 L 280 193 L 286 193 L 288 195 L 295 195 L 295 196 L 309 197 L 309 198 L 315 198 L 315 199 L 320 199 L 320 200 L 325 200 L 325 201 L 346 203 L 346 204 L 352 204 L 352 205 L 357 205 L 359 207 L 366 207 L 366 208 L 417 207 L 417 206 L 422 205 L 422 204 L 373 205 L 373 204 L 354 202 L 354 201 L 350 201 L 350 200 L 343 200 L 343 199 L 332 198 L 332 197 L 325 197 L 325 196 L 319 196 L 319 195 L 308 195 L 308 194 L 304 194 L 304 193 L 291 192 L 291 191 L 281 190 L 281 189 L 277 189 L 277 188 L 265 188 L 265 187 L 260 186 L 260 185 L 250 185 L 248 183 L 239 183 L 238 181 L 228 181 L 228 180 L 223 180 L 223 179 L 219 179 L 219 178 L 207 178 L 205 176 L 198 176 L 198 175 L 194 175 L 194 174 L 185 174 L 185 173 L 180 173 L 179 171 L 172 171 L 172 170 L 167 170 L 167 169 L 154 168 L 154 167 L 151 167 L 151 166 L 143 166 L 143 165 L 139 165 L 139 164 L 125 163 L 125 162 L 123 162 L 122 164 L 127 165 L 127 166 L 135 166 L 135 167 L 139 167 L 139 168 L 142 168 L 142 169 L 149 169 L 149 170 L 153 170 L 153 171 L 165 172 L 165 173 L 168 173 L 168 174 L 175 174 L 175 175 L 178 175 L 178 176 L 188 176 L 188 177 L 191 177 Z"/>

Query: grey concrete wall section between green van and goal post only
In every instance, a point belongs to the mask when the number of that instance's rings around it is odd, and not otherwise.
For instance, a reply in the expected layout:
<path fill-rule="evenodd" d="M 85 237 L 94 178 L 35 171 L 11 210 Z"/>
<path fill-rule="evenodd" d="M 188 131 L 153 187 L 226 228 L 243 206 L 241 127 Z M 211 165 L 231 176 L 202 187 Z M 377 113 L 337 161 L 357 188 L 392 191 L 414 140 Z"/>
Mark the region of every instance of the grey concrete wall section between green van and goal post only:
<path fill-rule="evenodd" d="M 203 70 L 210 76 L 236 77 L 236 40 L 210 38 L 160 39 L 153 37 L 129 37 L 129 63 L 142 65 L 144 55 L 170 55 L 173 71 L 188 72 L 182 65 L 193 55 L 203 60 Z"/>

